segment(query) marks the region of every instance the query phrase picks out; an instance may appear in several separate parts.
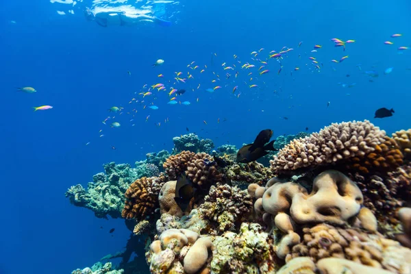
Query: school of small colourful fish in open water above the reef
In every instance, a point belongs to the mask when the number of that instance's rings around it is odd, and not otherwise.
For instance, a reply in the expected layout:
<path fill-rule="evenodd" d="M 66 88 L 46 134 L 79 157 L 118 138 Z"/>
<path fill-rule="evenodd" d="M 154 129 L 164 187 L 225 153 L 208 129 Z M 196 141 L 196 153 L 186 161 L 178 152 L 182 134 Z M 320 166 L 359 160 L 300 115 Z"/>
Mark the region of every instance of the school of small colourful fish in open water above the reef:
<path fill-rule="evenodd" d="M 409 47 L 402 44 L 401 37 L 403 37 L 402 34 L 393 34 L 389 40 L 382 41 L 382 43 L 387 47 L 397 45 L 394 50 L 396 49 L 399 54 L 402 54 Z M 215 96 L 219 92 L 229 92 L 232 96 L 239 98 L 240 95 L 248 92 L 267 92 L 270 88 L 266 82 L 269 82 L 269 80 L 275 80 L 276 77 L 287 77 L 288 75 L 294 78 L 303 69 L 308 70 L 310 73 L 320 73 L 323 69 L 336 71 L 339 64 L 350 62 L 349 51 L 356 47 L 356 42 L 352 39 L 331 38 L 329 44 L 307 45 L 305 47 L 301 41 L 296 43 L 295 48 L 284 46 L 281 49 L 271 51 L 264 48 L 251 51 L 249 56 L 245 56 L 244 60 L 234 54 L 232 58 L 225 57 L 226 60 L 222 59 L 220 64 L 216 63 L 219 58 L 217 53 L 212 53 L 210 64 L 197 64 L 196 61 L 192 61 L 185 68 L 176 68 L 173 75 L 167 75 L 162 71 L 162 68 L 167 64 L 164 60 L 158 59 L 151 65 L 153 66 L 153 73 L 158 78 L 158 83 L 145 83 L 139 91 L 134 92 L 134 96 L 128 103 L 110 106 L 108 108 L 109 115 L 103 119 L 102 123 L 107 125 L 107 121 L 110 120 L 112 121 L 110 127 L 116 129 L 121 127 L 121 124 L 116 121 L 118 116 L 129 115 L 129 125 L 135 126 L 137 123 L 150 121 L 150 112 L 160 108 L 190 108 L 192 102 L 184 99 L 187 93 L 195 94 L 195 97 L 197 97 L 195 103 L 201 103 L 201 97 L 206 94 Z M 329 47 L 337 49 L 333 53 L 333 59 L 325 60 L 319 52 Z M 298 64 L 288 64 L 290 55 L 298 56 Z M 292 60 L 295 60 L 295 58 Z M 373 82 L 375 78 L 379 77 L 379 73 L 375 68 L 362 71 L 361 64 L 353 64 L 353 67 L 356 67 L 360 73 L 365 75 L 369 82 Z M 388 67 L 382 73 L 389 75 L 393 71 L 393 67 Z M 127 71 L 127 75 L 134 77 L 135 74 Z M 350 75 L 347 74 L 346 76 L 349 77 Z M 340 82 L 338 85 L 343 88 L 353 88 L 356 83 L 345 84 Z M 17 90 L 28 94 L 37 92 L 35 88 L 29 86 Z M 281 90 L 282 87 L 280 86 L 279 90 L 273 90 L 273 93 L 276 95 Z M 329 105 L 330 102 L 327 102 L 327 107 Z M 51 105 L 40 105 L 34 107 L 34 111 L 50 110 L 51 108 L 53 108 Z M 167 111 L 167 113 L 169 112 Z M 287 117 L 280 118 L 288 120 Z M 219 120 L 216 123 L 219 123 Z M 121 121 L 124 123 L 124 119 Z M 164 117 L 162 121 L 153 121 L 154 125 L 158 127 L 162 123 L 164 125 L 168 122 L 169 117 Z M 203 120 L 203 124 L 208 125 L 206 119 Z M 102 132 L 103 129 L 100 129 L 99 137 L 105 136 Z M 86 145 L 89 144 L 90 142 L 86 142 Z"/>

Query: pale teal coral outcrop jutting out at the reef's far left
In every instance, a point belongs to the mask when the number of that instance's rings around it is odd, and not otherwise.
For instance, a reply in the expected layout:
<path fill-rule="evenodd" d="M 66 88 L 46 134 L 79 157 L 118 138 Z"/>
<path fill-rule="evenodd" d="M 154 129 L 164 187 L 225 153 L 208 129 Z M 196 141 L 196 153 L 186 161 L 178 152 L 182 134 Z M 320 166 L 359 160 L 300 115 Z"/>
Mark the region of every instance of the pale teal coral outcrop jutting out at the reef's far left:
<path fill-rule="evenodd" d="M 71 186 L 65 195 L 75 206 L 88 208 L 98 218 L 121 217 L 125 201 L 124 193 L 138 176 L 129 164 L 105 164 L 104 173 L 97 173 L 88 183 L 87 190 L 82 185 Z"/>

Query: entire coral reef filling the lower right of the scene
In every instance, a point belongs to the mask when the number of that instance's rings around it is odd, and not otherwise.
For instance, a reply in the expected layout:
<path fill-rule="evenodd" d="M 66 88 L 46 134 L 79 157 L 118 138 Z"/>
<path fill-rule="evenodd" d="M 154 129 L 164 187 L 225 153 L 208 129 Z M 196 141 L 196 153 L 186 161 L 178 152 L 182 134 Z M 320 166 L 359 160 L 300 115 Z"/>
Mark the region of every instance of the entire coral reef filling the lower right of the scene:
<path fill-rule="evenodd" d="M 119 216 L 124 205 L 134 231 L 124 252 L 104 259 L 123 258 L 125 273 L 139 268 L 128 260 L 145 245 L 151 273 L 405 274 L 410 140 L 411 129 L 390 137 L 369 121 L 332 124 L 309 136 L 277 137 L 280 151 L 265 167 L 236 163 L 232 145 L 213 157 L 211 141 L 188 134 L 173 139 L 173 155 L 149 153 L 135 169 L 110 163 L 107 175 L 93 177 L 92 190 L 77 185 L 66 195 L 99 216 Z M 175 201 L 182 174 L 195 188 L 180 205 L 184 212 Z M 107 193 L 116 206 L 90 202 L 107 201 Z"/>

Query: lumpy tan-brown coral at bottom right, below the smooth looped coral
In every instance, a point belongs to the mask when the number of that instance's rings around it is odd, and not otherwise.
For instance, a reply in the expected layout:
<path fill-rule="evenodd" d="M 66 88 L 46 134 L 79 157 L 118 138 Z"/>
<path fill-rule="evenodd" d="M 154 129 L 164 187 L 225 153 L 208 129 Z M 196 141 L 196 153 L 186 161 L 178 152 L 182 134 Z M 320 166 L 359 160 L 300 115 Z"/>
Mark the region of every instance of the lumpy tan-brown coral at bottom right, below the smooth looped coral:
<path fill-rule="evenodd" d="M 399 242 L 379 234 L 366 234 L 360 229 L 342 229 L 332 225 L 316 225 L 303 229 L 302 242 L 292 247 L 286 261 L 310 257 L 314 262 L 323 258 L 343 258 L 379 269 L 401 273 L 411 260 L 411 250 Z M 395 250 L 395 252 L 394 252 Z"/>

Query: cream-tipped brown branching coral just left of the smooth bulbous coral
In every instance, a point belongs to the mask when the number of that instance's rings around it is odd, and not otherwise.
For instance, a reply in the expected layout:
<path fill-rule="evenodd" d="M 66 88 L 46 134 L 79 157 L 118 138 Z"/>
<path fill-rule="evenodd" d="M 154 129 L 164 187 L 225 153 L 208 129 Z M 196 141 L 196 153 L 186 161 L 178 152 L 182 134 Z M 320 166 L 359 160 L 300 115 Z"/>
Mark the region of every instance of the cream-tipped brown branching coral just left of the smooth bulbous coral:
<path fill-rule="evenodd" d="M 253 201 L 247 190 L 228 186 L 227 184 L 212 186 L 201 204 L 199 212 L 210 220 L 218 233 L 234 231 L 249 216 Z M 213 233 L 213 232 L 211 232 Z"/>

